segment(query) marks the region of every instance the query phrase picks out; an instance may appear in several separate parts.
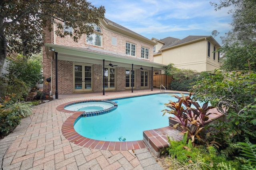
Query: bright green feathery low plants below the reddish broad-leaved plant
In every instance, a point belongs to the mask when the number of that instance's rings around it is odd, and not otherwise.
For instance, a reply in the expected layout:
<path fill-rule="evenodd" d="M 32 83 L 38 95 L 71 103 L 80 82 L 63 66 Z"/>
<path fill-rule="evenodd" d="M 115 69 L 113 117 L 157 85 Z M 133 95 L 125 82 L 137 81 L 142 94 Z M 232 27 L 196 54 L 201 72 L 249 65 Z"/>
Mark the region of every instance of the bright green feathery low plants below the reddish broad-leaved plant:
<path fill-rule="evenodd" d="M 170 157 L 167 161 L 170 161 L 169 169 L 171 170 L 216 170 L 220 169 L 219 164 L 229 164 L 231 168 L 239 169 L 239 161 L 226 160 L 213 146 L 192 147 L 191 144 L 184 143 L 184 140 L 173 141 L 169 137 L 168 142 L 170 146 L 167 151 Z"/>

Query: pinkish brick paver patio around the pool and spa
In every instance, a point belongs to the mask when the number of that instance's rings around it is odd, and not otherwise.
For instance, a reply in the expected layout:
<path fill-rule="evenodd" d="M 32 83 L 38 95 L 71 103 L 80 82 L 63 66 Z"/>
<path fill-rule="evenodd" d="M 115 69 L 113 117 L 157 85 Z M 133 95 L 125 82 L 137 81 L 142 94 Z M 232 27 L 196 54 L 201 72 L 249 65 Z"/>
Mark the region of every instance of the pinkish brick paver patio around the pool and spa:
<path fill-rule="evenodd" d="M 120 98 L 151 93 L 159 89 L 121 92 L 64 94 L 59 99 L 34 106 L 34 114 L 7 137 L 0 140 L 0 163 L 3 170 L 161 170 L 148 148 L 136 150 L 89 149 L 68 141 L 62 134 L 64 121 L 72 115 L 56 110 L 66 102 Z M 170 91 L 171 92 L 171 91 Z M 172 91 L 173 92 L 173 91 Z M 168 119 L 166 120 L 168 121 Z"/>

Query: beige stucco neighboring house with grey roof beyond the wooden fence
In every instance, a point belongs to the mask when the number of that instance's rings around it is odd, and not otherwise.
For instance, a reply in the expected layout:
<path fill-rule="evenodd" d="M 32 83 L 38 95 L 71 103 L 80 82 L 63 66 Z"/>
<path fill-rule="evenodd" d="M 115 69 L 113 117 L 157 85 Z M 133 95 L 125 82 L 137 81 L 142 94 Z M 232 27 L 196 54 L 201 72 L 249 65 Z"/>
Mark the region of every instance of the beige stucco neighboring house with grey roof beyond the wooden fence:
<path fill-rule="evenodd" d="M 154 46 L 154 62 L 168 65 L 173 63 L 176 68 L 210 71 L 220 68 L 220 48 L 212 36 L 188 36 L 184 39 L 166 37 L 152 38 Z"/>

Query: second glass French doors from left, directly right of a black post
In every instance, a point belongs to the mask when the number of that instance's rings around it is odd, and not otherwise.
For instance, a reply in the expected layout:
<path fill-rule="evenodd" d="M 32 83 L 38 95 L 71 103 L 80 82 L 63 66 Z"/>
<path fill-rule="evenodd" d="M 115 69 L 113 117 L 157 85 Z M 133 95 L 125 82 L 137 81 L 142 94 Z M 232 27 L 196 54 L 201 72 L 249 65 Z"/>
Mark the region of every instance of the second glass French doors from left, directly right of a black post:
<path fill-rule="evenodd" d="M 115 90 L 116 89 L 115 68 L 105 68 L 105 70 L 104 70 L 104 88 L 105 88 L 105 90 Z"/>

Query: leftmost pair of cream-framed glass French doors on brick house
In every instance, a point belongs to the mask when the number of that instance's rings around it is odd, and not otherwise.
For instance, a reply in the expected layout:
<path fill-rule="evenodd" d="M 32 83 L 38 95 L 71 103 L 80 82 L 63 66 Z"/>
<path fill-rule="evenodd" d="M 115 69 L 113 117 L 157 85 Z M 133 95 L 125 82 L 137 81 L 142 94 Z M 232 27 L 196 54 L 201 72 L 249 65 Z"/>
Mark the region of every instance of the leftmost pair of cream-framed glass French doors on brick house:
<path fill-rule="evenodd" d="M 92 91 L 92 66 L 74 65 L 74 92 Z"/>

